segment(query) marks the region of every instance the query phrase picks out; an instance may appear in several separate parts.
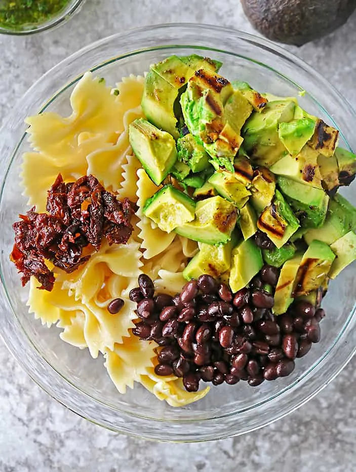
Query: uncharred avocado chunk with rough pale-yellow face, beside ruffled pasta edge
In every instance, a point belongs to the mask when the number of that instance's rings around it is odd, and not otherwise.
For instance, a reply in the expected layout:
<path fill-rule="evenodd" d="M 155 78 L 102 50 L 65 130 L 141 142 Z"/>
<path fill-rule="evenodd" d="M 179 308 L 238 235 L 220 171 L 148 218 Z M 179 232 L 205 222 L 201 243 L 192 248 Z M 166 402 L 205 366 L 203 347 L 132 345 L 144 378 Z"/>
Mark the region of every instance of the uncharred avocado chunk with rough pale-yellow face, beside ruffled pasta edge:
<path fill-rule="evenodd" d="M 165 185 L 147 199 L 143 214 L 170 233 L 177 226 L 194 219 L 195 202 L 173 185 Z"/>

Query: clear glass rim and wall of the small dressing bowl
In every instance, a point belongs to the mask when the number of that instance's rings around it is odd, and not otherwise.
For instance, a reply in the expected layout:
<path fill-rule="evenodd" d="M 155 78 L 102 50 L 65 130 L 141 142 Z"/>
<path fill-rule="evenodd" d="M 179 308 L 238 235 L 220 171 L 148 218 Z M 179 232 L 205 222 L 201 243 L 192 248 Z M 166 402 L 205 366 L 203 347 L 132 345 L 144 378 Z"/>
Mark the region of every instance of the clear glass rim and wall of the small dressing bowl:
<path fill-rule="evenodd" d="M 85 0 L 68 0 L 67 4 L 56 14 L 49 17 L 45 21 L 38 23 L 28 23 L 21 26 L 14 26 L 13 28 L 7 28 L 6 26 L 0 26 L 0 33 L 3 34 L 15 34 L 21 36 L 24 34 L 39 33 L 46 31 L 47 29 L 54 28 L 69 20 L 75 13 L 77 13 L 82 7 Z M 36 2 L 35 2 L 36 3 Z"/>

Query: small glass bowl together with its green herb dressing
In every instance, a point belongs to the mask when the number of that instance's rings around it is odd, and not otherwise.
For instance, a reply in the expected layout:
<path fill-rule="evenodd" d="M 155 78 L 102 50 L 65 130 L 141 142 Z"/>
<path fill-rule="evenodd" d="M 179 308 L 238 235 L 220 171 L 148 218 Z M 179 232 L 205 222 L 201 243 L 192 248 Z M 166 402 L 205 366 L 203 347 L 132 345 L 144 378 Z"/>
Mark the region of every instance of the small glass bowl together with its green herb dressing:
<path fill-rule="evenodd" d="M 68 21 L 85 0 L 0 0 L 0 33 L 31 34 Z"/>

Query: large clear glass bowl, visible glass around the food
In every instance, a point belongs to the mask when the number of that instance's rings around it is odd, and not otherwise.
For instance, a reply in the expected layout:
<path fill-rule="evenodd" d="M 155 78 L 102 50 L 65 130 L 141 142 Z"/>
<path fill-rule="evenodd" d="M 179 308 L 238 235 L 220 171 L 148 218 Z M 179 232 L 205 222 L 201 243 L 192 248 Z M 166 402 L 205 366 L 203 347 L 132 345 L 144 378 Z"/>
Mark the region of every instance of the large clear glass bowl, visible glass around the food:
<path fill-rule="evenodd" d="M 355 265 L 343 270 L 324 299 L 327 317 L 322 339 L 297 360 L 289 377 L 250 387 L 212 387 L 203 400 L 174 409 L 139 384 L 126 395 L 115 390 L 103 360 L 74 348 L 27 313 L 27 288 L 21 288 L 9 261 L 11 224 L 24 212 L 19 170 L 28 149 L 24 118 L 40 110 L 69 113 L 69 95 L 87 70 L 114 83 L 171 54 L 203 54 L 223 62 L 230 80 L 250 82 L 257 90 L 298 96 L 309 112 L 341 131 L 340 144 L 356 148 L 356 115 L 325 79 L 282 48 L 249 34 L 196 24 L 162 25 L 114 35 L 70 56 L 47 72 L 13 108 L 0 133 L 5 174 L 1 190 L 1 280 L 4 302 L 0 333 L 28 374 L 52 397 L 77 414 L 125 434 L 163 441 L 203 441 L 241 435 L 260 428 L 304 404 L 326 386 L 351 358 L 356 345 Z M 356 185 L 342 192 L 355 203 Z M 9 373 L 10 375 L 10 373 Z M 21 401 L 21 399 L 19 399 Z"/>

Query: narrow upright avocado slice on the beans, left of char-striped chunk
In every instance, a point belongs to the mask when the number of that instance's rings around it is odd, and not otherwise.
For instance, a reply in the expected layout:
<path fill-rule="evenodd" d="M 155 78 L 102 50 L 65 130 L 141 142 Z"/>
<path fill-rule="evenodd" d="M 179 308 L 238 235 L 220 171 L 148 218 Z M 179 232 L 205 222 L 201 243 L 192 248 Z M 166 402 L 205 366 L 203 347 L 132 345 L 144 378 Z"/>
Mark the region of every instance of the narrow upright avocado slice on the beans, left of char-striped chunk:
<path fill-rule="evenodd" d="M 280 277 L 274 292 L 274 314 L 283 314 L 293 302 L 293 287 L 299 264 L 302 260 L 300 254 L 296 254 L 292 259 L 287 260 L 281 269 Z"/>

